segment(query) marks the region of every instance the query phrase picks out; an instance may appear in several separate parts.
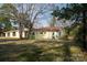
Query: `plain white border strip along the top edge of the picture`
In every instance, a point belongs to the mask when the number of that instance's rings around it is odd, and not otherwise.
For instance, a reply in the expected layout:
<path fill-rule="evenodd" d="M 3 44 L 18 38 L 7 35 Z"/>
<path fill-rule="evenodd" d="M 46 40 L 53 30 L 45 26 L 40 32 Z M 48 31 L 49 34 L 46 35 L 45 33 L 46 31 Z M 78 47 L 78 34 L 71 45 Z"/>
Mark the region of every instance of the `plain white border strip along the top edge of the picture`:
<path fill-rule="evenodd" d="M 0 3 L 86 3 L 87 0 L 0 0 Z"/>

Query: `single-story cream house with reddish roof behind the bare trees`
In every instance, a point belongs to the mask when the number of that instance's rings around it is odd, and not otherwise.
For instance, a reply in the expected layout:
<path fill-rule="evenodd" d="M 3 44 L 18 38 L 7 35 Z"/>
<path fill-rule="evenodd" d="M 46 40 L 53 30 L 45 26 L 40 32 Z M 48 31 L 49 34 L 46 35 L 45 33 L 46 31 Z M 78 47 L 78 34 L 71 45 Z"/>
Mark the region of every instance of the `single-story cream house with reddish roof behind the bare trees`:
<path fill-rule="evenodd" d="M 19 30 L 11 30 L 3 32 L 4 37 L 20 37 Z M 32 34 L 35 39 L 58 39 L 64 35 L 64 31 L 62 28 L 58 26 L 46 26 L 40 29 L 33 29 Z M 26 37 L 28 29 L 24 29 L 22 32 L 22 36 Z"/>

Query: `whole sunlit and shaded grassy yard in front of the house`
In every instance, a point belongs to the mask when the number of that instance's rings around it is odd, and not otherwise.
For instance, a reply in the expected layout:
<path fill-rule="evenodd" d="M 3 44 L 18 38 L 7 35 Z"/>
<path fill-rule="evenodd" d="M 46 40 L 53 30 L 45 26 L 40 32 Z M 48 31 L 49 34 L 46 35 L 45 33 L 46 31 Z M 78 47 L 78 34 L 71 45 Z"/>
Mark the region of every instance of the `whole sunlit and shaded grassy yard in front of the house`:
<path fill-rule="evenodd" d="M 0 42 L 1 62 L 83 62 L 87 54 L 72 41 L 22 40 Z"/>

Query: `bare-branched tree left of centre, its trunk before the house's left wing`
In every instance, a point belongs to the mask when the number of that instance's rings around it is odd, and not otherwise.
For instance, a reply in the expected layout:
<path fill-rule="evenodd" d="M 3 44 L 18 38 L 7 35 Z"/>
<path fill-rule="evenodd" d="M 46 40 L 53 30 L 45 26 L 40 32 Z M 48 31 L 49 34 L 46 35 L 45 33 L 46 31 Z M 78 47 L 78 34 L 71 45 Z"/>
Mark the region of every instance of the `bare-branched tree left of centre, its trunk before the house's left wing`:
<path fill-rule="evenodd" d="M 12 20 L 17 20 L 17 22 L 19 23 L 19 34 L 20 34 L 20 39 L 23 39 L 22 37 L 22 31 L 23 31 L 23 12 L 20 12 L 20 11 L 23 11 L 23 9 L 19 10 L 18 9 L 18 4 L 11 4 L 11 3 L 4 3 L 2 4 L 1 7 L 1 15 L 4 15 L 9 19 L 12 19 Z M 22 8 L 22 7 L 21 7 Z M 8 22 L 7 22 L 8 23 Z"/>

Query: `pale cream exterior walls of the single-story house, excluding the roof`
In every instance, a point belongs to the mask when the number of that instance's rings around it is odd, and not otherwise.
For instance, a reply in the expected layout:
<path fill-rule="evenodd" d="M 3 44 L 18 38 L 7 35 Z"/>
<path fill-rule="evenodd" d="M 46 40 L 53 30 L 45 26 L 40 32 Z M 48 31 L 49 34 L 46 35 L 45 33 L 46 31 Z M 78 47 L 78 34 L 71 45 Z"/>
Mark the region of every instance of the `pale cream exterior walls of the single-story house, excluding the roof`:
<path fill-rule="evenodd" d="M 24 30 L 26 31 L 26 30 Z M 23 31 L 22 33 L 22 36 L 25 37 L 25 32 Z M 13 32 L 15 32 L 15 36 L 13 36 Z M 59 32 L 61 32 L 61 35 L 59 35 Z M 15 30 L 15 31 L 8 31 L 8 32 L 4 32 L 6 33 L 6 37 L 20 37 L 20 34 L 19 34 L 19 30 Z M 8 33 L 10 33 L 10 36 L 8 36 Z M 45 31 L 45 32 L 42 32 L 43 34 L 41 34 L 41 31 L 34 31 L 35 33 L 35 39 L 53 39 L 53 33 L 54 33 L 54 39 L 59 39 L 61 36 L 64 35 L 64 31 L 61 30 L 58 32 L 52 32 L 52 31 Z"/>

